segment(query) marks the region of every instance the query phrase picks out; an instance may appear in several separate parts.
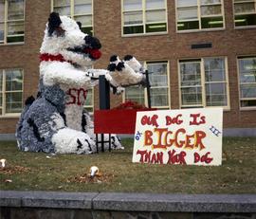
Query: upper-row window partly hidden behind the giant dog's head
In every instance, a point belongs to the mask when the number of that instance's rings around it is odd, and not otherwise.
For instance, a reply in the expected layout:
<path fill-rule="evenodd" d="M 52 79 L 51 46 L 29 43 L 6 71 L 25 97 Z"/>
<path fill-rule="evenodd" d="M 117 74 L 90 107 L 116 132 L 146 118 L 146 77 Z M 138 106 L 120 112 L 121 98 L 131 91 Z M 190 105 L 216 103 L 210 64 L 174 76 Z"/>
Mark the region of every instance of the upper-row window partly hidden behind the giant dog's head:
<path fill-rule="evenodd" d="M 93 0 L 53 0 L 52 10 L 82 23 L 82 31 L 93 34 Z"/>

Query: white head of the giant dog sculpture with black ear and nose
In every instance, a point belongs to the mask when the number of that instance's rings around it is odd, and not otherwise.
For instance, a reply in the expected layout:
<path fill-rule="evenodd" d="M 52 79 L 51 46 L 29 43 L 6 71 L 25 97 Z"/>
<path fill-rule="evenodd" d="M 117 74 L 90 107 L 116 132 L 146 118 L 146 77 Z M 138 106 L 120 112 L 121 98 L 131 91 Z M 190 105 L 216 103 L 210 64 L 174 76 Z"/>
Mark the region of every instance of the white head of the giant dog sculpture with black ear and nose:
<path fill-rule="evenodd" d="M 83 33 L 80 27 L 81 23 L 52 12 L 40 49 L 43 61 L 58 57 L 71 64 L 88 66 L 98 60 L 101 57 L 99 39 Z"/>

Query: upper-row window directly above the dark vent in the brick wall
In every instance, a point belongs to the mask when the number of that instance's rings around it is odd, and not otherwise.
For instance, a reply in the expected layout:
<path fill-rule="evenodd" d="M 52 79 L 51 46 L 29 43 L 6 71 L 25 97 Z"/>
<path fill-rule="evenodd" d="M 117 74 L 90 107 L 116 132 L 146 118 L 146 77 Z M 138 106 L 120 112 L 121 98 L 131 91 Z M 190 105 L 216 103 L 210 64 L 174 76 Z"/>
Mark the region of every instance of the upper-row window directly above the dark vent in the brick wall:
<path fill-rule="evenodd" d="M 224 27 L 223 0 L 176 0 L 178 31 Z"/>

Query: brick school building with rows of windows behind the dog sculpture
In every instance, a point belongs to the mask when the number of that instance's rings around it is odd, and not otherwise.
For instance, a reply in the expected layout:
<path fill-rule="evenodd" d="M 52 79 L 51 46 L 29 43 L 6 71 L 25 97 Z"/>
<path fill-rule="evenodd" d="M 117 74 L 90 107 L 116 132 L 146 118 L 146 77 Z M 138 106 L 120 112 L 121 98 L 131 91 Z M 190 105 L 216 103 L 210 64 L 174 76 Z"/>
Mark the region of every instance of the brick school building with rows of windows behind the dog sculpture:
<path fill-rule="evenodd" d="M 224 108 L 227 135 L 256 134 L 256 0 L 0 0 L 0 137 L 36 95 L 39 48 L 50 11 L 82 22 L 109 57 L 133 54 L 150 72 L 152 105 L 159 109 Z M 86 107 L 99 108 L 98 89 Z M 147 104 L 143 88 L 124 100 Z"/>

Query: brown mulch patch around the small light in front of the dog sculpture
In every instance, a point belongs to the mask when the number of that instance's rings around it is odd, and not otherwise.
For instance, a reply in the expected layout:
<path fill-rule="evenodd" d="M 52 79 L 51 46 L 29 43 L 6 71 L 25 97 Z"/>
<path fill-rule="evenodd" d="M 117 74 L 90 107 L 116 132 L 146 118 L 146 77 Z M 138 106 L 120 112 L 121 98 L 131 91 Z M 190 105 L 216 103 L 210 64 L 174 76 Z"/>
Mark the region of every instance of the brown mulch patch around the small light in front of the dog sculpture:
<path fill-rule="evenodd" d="M 74 177 L 69 177 L 67 182 L 76 182 L 76 183 L 110 183 L 113 178 L 115 177 L 114 174 L 101 174 L 95 175 L 91 177 L 90 174 L 82 174 L 76 175 Z"/>

